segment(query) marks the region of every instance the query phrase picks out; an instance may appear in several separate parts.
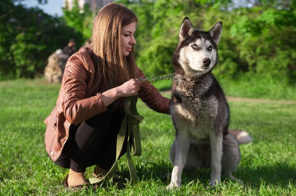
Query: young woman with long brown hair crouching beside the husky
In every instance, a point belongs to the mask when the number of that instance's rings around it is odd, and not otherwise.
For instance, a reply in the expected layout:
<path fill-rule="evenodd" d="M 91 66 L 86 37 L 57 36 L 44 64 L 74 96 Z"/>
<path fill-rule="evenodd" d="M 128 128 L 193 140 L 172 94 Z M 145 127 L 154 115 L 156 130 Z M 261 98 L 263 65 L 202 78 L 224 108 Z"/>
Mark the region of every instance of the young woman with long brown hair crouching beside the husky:
<path fill-rule="evenodd" d="M 134 59 L 137 21 L 123 5 L 106 5 L 94 20 L 92 44 L 67 62 L 56 106 L 44 121 L 48 155 L 70 168 L 67 187 L 87 184 L 86 167 L 96 165 L 95 174 L 107 173 L 115 162 L 125 97 L 138 95 L 149 108 L 169 114 L 169 99 L 136 79 L 145 78 Z"/>

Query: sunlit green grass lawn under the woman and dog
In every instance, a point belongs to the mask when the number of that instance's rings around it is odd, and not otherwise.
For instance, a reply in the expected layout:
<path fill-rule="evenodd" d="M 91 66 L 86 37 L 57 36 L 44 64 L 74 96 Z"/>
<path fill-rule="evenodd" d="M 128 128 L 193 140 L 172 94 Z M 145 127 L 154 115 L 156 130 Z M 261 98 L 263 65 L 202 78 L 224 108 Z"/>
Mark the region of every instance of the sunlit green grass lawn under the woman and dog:
<path fill-rule="evenodd" d="M 175 136 L 171 118 L 148 109 L 139 113 L 142 156 L 134 157 L 139 182 L 132 187 L 70 193 L 63 188 L 67 169 L 56 166 L 44 149 L 43 120 L 55 105 L 59 85 L 43 80 L 0 82 L 0 195 L 135 195 L 135 196 L 292 196 L 296 195 L 296 104 L 229 102 L 230 128 L 248 131 L 253 142 L 241 145 L 234 176 L 209 187 L 210 169 L 182 175 L 177 191 L 166 191 L 163 175 L 172 171 L 169 148 Z M 169 97 L 170 95 L 165 95 Z M 91 177 L 93 167 L 87 168 Z M 125 156 L 118 173 L 129 178 Z"/>

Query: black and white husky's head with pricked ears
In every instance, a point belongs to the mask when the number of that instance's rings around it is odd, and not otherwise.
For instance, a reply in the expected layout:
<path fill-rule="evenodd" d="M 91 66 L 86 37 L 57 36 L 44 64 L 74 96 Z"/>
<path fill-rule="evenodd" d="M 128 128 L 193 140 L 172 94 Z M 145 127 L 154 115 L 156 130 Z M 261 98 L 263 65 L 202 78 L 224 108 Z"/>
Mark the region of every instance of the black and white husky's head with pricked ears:
<path fill-rule="evenodd" d="M 189 18 L 185 17 L 173 57 L 176 73 L 201 76 L 211 71 L 218 61 L 217 45 L 221 33 L 221 21 L 210 31 L 204 32 L 194 30 Z"/>

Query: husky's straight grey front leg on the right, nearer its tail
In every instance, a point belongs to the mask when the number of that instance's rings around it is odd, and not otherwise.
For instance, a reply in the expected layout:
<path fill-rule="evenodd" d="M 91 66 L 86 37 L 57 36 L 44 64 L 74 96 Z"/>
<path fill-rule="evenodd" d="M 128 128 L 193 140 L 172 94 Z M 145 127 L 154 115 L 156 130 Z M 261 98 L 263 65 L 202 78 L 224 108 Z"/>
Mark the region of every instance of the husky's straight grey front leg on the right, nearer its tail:
<path fill-rule="evenodd" d="M 222 134 L 215 131 L 210 133 L 211 145 L 211 180 L 210 185 L 213 187 L 220 184 L 221 180 L 221 160 L 222 160 Z"/>

